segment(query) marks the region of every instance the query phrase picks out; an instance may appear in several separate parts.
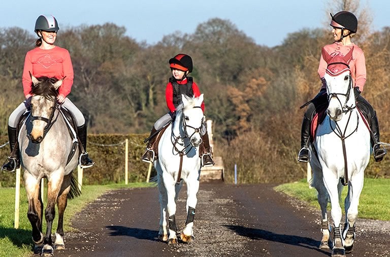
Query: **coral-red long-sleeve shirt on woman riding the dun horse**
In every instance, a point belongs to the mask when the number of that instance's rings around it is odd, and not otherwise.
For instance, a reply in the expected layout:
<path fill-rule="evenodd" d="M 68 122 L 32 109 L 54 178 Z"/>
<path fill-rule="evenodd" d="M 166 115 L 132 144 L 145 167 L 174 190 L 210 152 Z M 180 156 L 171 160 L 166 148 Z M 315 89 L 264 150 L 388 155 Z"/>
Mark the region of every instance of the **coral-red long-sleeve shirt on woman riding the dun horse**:
<path fill-rule="evenodd" d="M 46 76 L 60 80 L 65 77 L 58 88 L 58 94 L 67 97 L 71 92 L 74 74 L 71 55 L 67 49 L 56 46 L 44 50 L 36 47 L 26 53 L 22 75 L 23 93 L 26 98 L 30 96 L 32 83 L 29 72 L 36 78 Z"/>

